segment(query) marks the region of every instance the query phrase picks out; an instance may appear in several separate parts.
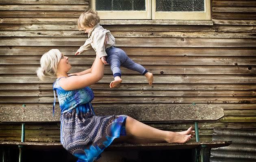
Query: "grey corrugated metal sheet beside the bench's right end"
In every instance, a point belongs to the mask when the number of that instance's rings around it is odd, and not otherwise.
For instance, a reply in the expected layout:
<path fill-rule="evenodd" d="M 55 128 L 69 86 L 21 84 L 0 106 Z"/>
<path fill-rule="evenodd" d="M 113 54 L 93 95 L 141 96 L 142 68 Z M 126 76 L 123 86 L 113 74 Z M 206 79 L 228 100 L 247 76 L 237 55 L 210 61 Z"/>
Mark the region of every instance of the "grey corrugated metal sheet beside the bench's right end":
<path fill-rule="evenodd" d="M 256 162 L 256 130 L 214 128 L 213 141 L 220 140 L 232 144 L 213 148 L 210 162 Z"/>

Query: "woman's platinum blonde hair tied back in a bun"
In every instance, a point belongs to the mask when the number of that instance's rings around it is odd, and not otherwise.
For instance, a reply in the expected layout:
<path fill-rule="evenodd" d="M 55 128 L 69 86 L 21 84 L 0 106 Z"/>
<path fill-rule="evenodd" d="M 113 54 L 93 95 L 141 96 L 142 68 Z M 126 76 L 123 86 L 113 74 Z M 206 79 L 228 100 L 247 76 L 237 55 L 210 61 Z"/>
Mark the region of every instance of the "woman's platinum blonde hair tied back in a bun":
<path fill-rule="evenodd" d="M 48 77 L 56 77 L 57 65 L 61 60 L 61 51 L 59 49 L 51 49 L 44 53 L 40 60 L 40 65 L 37 69 L 37 76 L 41 81 Z"/>

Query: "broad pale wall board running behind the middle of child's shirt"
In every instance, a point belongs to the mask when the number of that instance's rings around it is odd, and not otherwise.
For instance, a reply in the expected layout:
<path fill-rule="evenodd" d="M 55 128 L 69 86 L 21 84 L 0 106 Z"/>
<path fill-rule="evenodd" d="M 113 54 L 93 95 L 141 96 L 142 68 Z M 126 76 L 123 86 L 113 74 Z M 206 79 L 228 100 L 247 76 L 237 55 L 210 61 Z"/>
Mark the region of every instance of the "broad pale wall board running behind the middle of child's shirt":
<path fill-rule="evenodd" d="M 77 46 L 85 38 L 2 37 L 2 46 Z M 122 47 L 256 47 L 256 39 L 245 38 L 117 38 Z"/>

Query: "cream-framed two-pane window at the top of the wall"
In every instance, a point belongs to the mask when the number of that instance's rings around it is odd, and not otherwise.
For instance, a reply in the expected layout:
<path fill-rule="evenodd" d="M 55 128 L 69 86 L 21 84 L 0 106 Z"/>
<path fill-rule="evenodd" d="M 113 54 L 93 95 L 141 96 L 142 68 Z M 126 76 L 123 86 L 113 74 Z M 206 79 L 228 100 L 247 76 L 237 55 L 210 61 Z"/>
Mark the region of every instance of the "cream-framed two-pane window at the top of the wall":
<path fill-rule="evenodd" d="M 210 20 L 210 0 L 91 0 L 101 19 Z"/>

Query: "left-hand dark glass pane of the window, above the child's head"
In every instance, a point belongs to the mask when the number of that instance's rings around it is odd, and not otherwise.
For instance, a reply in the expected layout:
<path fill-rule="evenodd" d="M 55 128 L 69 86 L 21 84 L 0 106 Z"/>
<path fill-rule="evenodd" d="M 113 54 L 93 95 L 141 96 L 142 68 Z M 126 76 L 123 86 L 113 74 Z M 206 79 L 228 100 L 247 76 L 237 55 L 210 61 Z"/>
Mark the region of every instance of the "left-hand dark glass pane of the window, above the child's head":
<path fill-rule="evenodd" d="M 98 11 L 145 11 L 145 0 L 95 0 Z"/>

